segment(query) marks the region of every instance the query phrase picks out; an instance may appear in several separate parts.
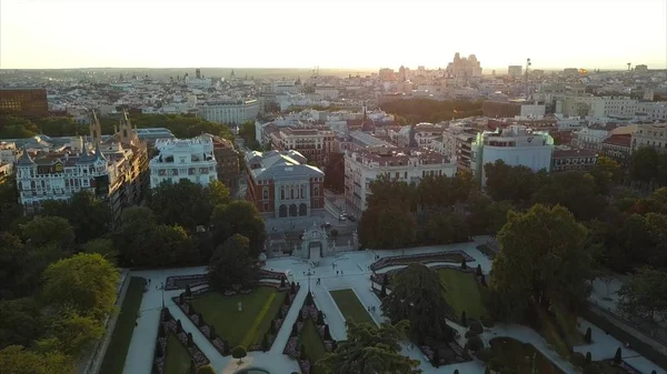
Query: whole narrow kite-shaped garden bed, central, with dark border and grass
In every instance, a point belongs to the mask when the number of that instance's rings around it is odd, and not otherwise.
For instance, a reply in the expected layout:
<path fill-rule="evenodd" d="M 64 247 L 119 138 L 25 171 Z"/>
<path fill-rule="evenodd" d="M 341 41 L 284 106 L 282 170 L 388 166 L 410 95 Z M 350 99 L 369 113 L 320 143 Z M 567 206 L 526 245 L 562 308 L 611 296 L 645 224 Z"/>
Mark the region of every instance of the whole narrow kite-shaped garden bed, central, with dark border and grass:
<path fill-rule="evenodd" d="M 298 361 L 302 374 L 317 374 L 315 364 L 336 350 L 337 344 L 325 323 L 323 313 L 315 305 L 312 294 L 308 293 L 282 353 Z"/>

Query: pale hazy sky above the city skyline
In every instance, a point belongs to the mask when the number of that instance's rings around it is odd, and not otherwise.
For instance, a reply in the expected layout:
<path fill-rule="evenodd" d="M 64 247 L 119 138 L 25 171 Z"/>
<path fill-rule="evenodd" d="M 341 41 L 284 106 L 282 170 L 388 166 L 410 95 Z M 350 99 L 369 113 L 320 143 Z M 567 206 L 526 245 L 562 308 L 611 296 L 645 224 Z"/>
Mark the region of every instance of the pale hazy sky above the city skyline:
<path fill-rule="evenodd" d="M 0 69 L 667 69 L 667 0 L 1 0 Z"/>

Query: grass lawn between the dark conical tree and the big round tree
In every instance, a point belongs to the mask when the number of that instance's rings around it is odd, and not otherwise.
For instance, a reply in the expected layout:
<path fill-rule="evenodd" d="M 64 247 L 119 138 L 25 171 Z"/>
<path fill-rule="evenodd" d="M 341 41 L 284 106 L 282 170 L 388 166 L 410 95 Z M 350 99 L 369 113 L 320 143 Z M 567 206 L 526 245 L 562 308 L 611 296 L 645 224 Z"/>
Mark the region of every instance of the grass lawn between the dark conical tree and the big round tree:
<path fill-rule="evenodd" d="M 440 282 L 445 285 L 447 293 L 445 299 L 454 309 L 457 316 L 466 311 L 466 317 L 479 319 L 487 314 L 484 306 L 484 293 L 475 273 L 466 273 L 455 269 L 438 269 Z"/>

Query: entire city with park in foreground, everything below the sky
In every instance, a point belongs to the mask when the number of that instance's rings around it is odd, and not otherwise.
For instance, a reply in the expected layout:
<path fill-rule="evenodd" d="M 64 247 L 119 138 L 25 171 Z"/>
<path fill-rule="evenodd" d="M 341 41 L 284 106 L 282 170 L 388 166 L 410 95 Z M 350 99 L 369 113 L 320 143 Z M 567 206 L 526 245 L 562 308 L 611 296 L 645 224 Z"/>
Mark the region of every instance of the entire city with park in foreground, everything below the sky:
<path fill-rule="evenodd" d="M 667 58 L 440 54 L 1 67 L 0 374 L 667 374 Z"/>

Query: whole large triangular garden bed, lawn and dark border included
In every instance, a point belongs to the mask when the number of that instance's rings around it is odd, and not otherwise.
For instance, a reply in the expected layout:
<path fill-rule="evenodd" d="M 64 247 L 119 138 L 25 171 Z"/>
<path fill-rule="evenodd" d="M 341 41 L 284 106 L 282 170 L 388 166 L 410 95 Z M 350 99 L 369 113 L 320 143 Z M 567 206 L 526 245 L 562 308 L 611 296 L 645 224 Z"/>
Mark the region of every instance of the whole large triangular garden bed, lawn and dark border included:
<path fill-rule="evenodd" d="M 248 351 L 270 350 L 298 290 L 295 283 L 279 283 L 238 293 L 207 291 L 192 297 L 182 293 L 173 300 L 216 350 L 227 356 L 238 345 Z"/>

